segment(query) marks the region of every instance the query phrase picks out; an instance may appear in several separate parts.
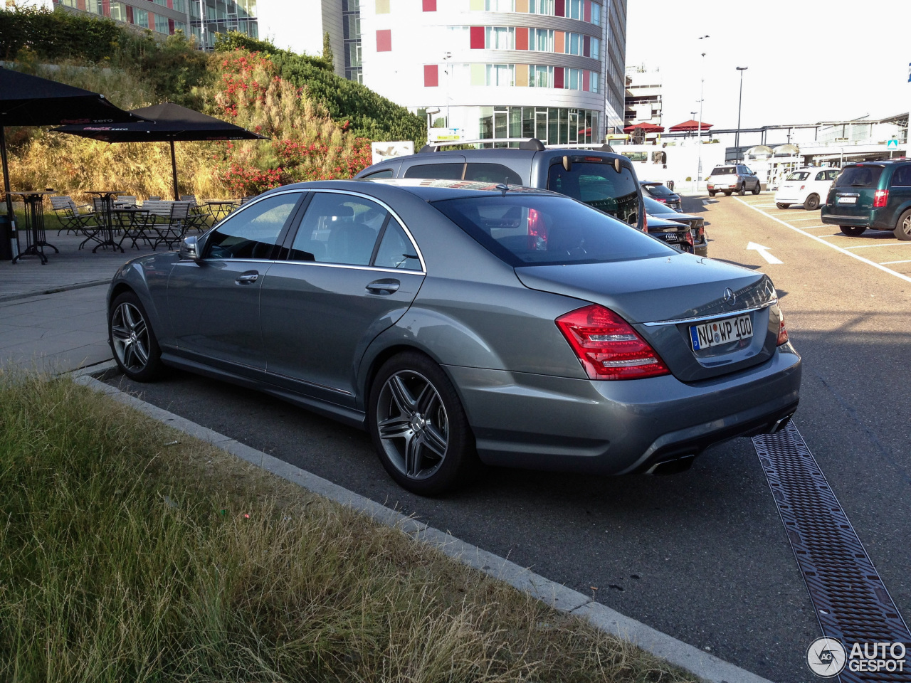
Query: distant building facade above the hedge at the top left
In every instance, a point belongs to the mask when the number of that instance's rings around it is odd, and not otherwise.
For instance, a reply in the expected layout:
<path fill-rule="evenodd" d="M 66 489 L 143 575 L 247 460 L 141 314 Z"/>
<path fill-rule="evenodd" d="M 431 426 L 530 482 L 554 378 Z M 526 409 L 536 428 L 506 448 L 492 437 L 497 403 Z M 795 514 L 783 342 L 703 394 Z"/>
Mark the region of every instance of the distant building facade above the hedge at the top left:
<path fill-rule="evenodd" d="M 53 0 L 73 12 L 107 16 L 161 36 L 183 31 L 210 49 L 217 34 L 240 31 L 258 37 L 256 0 Z"/>

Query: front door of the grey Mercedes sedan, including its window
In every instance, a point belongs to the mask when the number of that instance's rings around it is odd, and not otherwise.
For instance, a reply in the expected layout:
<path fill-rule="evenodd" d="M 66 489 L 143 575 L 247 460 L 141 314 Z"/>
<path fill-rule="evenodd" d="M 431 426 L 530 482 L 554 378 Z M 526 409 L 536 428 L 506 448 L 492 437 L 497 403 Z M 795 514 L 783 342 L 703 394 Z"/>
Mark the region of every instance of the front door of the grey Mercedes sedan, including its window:
<path fill-rule="evenodd" d="M 260 289 L 303 198 L 300 190 L 257 199 L 223 220 L 199 261 L 181 260 L 168 280 L 178 353 L 243 374 L 264 371 Z"/>

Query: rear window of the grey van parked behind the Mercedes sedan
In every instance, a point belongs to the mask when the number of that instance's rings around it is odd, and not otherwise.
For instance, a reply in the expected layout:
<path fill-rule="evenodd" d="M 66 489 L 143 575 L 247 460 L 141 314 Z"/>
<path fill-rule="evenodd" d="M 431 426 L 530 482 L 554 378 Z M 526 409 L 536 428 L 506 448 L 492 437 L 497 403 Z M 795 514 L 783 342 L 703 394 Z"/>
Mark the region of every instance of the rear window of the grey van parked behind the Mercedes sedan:
<path fill-rule="evenodd" d="M 569 170 L 562 164 L 548 169 L 548 189 L 584 201 L 625 223 L 639 220 L 640 193 L 629 168 L 597 162 L 573 162 Z"/>

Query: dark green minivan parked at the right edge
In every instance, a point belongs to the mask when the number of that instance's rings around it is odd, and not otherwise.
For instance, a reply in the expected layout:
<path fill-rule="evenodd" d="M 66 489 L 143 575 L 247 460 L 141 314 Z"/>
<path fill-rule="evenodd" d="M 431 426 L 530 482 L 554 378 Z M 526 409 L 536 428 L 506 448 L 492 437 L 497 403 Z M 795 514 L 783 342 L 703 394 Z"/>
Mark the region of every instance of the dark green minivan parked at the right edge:
<path fill-rule="evenodd" d="M 822 219 L 845 235 L 892 230 L 911 240 L 911 159 L 865 161 L 845 166 L 835 178 Z"/>

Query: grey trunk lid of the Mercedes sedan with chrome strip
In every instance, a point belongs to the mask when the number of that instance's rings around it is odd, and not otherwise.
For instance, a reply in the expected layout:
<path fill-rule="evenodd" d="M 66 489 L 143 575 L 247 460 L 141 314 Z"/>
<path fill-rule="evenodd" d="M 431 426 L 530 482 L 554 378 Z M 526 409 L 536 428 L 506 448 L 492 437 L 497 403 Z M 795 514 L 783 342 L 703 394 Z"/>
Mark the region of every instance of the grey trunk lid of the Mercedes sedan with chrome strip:
<path fill-rule="evenodd" d="M 765 362 L 777 346 L 781 311 L 775 289 L 772 280 L 753 270 L 681 254 L 522 266 L 516 274 L 530 289 L 573 297 L 580 300 L 579 307 L 590 301 L 619 313 L 682 382 L 708 380 Z M 752 336 L 693 348 L 691 328 L 728 322 L 741 329 L 748 324 Z"/>

